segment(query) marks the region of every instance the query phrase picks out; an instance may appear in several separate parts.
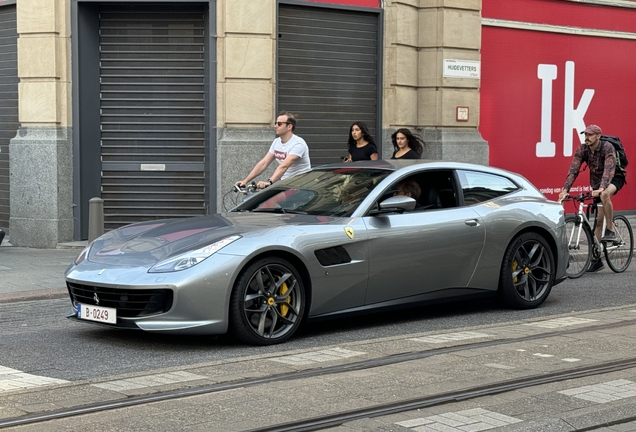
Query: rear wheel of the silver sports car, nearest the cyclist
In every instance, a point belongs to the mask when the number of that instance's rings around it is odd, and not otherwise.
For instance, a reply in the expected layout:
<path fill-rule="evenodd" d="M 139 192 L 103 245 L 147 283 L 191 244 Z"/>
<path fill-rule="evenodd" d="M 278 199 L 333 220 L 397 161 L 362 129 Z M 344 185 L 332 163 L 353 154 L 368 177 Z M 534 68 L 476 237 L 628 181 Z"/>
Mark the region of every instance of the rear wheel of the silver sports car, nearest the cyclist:
<path fill-rule="evenodd" d="M 515 237 L 504 255 L 499 296 L 508 307 L 533 309 L 545 301 L 554 284 L 554 256 L 536 233 Z"/>

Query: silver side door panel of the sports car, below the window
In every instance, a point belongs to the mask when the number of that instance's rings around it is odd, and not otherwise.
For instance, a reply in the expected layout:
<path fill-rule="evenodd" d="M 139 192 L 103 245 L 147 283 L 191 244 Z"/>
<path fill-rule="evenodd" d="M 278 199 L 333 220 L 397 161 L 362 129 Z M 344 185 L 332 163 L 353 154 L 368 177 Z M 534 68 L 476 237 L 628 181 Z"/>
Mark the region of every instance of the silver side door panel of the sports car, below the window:
<path fill-rule="evenodd" d="M 481 217 L 469 207 L 366 216 L 364 221 L 367 305 L 465 287 L 485 240 Z"/>

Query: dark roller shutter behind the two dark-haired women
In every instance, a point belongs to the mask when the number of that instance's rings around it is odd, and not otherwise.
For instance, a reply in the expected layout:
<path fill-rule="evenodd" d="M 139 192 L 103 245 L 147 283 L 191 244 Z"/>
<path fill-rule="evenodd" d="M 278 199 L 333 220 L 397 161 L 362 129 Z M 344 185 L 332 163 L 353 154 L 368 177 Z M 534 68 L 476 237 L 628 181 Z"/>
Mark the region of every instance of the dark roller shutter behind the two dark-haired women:
<path fill-rule="evenodd" d="M 378 144 L 379 14 L 280 4 L 278 108 L 299 115 L 312 165 L 347 154 L 349 127 L 367 124 Z"/>

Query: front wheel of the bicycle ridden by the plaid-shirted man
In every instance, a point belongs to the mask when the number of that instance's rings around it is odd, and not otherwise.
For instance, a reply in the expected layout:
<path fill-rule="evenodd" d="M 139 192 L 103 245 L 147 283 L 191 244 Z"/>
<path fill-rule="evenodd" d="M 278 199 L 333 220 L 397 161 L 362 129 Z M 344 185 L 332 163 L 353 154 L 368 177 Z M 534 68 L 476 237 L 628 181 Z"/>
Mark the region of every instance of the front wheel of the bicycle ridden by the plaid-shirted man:
<path fill-rule="evenodd" d="M 565 274 L 571 279 L 583 276 L 592 260 L 592 231 L 578 216 L 565 217 L 566 241 L 570 258 Z"/>

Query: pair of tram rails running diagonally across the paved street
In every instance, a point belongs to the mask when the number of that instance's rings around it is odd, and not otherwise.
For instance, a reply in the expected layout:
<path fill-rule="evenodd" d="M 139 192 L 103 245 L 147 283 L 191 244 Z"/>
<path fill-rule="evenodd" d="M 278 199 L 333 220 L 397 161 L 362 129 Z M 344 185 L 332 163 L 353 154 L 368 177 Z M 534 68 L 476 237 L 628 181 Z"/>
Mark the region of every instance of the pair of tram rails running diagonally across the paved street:
<path fill-rule="evenodd" d="M 311 377 L 326 376 L 332 374 L 341 374 L 353 371 L 360 371 L 365 369 L 378 368 L 383 366 L 390 366 L 401 362 L 408 362 L 414 360 L 421 360 L 427 357 L 457 353 L 461 351 L 495 347 L 499 345 L 528 342 L 539 339 L 546 339 L 557 336 L 567 336 L 577 333 L 609 330 L 620 328 L 624 326 L 634 325 L 636 320 L 624 320 L 614 323 L 601 324 L 601 325 L 587 325 L 568 330 L 557 330 L 552 332 L 538 333 L 534 335 L 522 336 L 522 337 L 510 337 L 501 338 L 496 340 L 463 343 L 461 345 L 443 347 L 438 349 L 427 349 L 421 351 L 411 351 L 407 353 L 387 355 L 383 357 L 377 357 L 373 359 L 367 359 L 362 361 L 350 362 L 347 364 L 311 368 L 306 370 L 300 370 L 296 372 L 285 372 L 284 374 L 274 374 L 258 378 L 249 378 L 236 380 L 227 383 L 218 383 L 206 386 L 199 386 L 187 389 L 165 391 L 150 395 L 128 397 L 126 399 L 101 402 L 89 405 L 83 405 L 68 409 L 49 411 L 40 414 L 29 414 L 20 417 L 0 419 L 0 429 L 31 425 L 40 422 L 52 421 L 63 418 L 79 417 L 82 415 L 93 414 L 109 410 L 117 410 L 122 408 L 142 406 L 146 404 L 152 404 L 156 402 L 169 401 L 174 399 L 182 399 L 192 396 L 199 396 L 205 394 L 211 394 L 215 392 L 221 392 L 232 389 L 239 389 L 245 387 L 252 387 L 258 385 L 264 385 L 268 383 L 281 382 L 286 380 L 298 380 Z M 466 388 L 463 390 L 440 393 L 436 395 L 430 395 L 427 397 L 416 398 L 411 400 L 405 400 L 390 404 L 376 405 L 370 408 L 364 408 L 359 410 L 346 411 L 329 416 L 316 417 L 312 419 L 306 419 L 294 423 L 285 423 L 274 426 L 268 426 L 264 428 L 252 429 L 252 432 L 274 432 L 274 431 L 311 431 L 319 430 L 321 428 L 333 427 L 344 422 L 353 421 L 360 418 L 376 417 L 387 414 L 394 414 L 398 412 L 409 411 L 412 409 L 425 408 L 435 405 L 440 405 L 449 402 L 456 402 L 466 399 L 478 398 L 487 395 L 493 395 L 512 391 L 521 388 L 527 388 L 532 386 L 538 386 L 542 384 L 558 382 L 568 379 L 589 377 L 593 375 L 601 375 L 610 372 L 616 372 L 624 369 L 636 368 L 636 357 L 628 358 L 618 361 L 611 361 L 605 363 L 599 363 L 581 368 L 570 368 L 568 370 L 554 372 L 554 373 L 542 373 L 515 380 L 505 380 L 501 382 L 490 383 L 483 386 L 475 386 Z"/>

